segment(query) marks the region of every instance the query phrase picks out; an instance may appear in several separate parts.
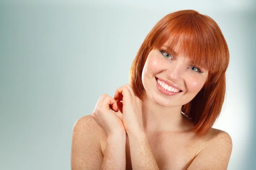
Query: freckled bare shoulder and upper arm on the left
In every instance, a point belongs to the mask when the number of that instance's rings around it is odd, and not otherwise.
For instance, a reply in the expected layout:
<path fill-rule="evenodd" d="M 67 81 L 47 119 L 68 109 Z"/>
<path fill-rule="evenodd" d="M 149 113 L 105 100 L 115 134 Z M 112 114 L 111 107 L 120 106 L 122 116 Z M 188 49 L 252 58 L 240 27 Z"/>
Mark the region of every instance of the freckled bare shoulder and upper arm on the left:
<path fill-rule="evenodd" d="M 71 169 L 100 169 L 103 159 L 102 131 L 91 115 L 76 121 L 71 142 Z"/>

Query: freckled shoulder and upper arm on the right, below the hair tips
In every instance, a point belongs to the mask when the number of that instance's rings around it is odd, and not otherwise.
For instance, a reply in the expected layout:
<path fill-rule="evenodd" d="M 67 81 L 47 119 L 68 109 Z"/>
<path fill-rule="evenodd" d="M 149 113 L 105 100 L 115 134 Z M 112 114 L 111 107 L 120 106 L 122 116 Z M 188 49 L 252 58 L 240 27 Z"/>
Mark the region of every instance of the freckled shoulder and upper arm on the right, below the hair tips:
<path fill-rule="evenodd" d="M 215 139 L 198 153 L 188 170 L 227 170 L 232 147 L 230 135 L 221 130 Z"/>

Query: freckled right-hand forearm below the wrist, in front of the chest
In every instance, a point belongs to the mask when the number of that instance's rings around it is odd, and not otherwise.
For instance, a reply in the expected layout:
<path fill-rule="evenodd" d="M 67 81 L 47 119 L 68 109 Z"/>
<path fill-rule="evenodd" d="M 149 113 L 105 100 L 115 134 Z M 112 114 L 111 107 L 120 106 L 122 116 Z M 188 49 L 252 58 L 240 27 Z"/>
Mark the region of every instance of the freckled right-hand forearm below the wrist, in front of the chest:
<path fill-rule="evenodd" d="M 145 133 L 129 134 L 133 170 L 159 170 Z"/>

